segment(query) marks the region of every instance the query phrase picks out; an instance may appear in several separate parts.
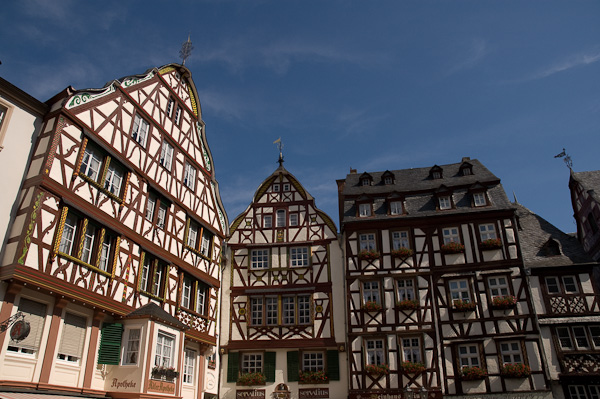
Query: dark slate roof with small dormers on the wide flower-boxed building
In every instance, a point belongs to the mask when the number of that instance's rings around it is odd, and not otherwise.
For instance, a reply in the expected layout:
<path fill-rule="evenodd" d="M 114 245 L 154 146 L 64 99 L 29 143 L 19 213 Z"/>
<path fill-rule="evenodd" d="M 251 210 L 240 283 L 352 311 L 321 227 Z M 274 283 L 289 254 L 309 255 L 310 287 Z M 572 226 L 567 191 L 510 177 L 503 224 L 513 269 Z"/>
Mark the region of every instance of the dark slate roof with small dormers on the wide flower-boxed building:
<path fill-rule="evenodd" d="M 471 175 L 464 176 L 461 166 L 468 163 L 472 166 Z M 437 166 L 437 165 L 436 165 Z M 384 184 L 382 176 L 388 172 L 370 172 L 373 183 L 370 186 L 362 186 L 360 178 L 362 174 L 351 173 L 346 176 L 345 185 L 341 195 L 344 198 L 343 222 L 358 220 L 370 220 L 390 218 L 387 214 L 386 197 L 390 194 L 404 197 L 404 205 L 407 215 L 402 217 L 424 217 L 440 216 L 464 213 L 488 212 L 490 210 L 514 209 L 500 184 L 500 179 L 491 173 L 476 159 L 465 158 L 463 162 L 439 166 L 443 170 L 441 179 L 433 179 L 430 176 L 432 167 L 392 170 L 394 174 L 393 184 Z M 388 172 L 389 173 L 389 172 Z M 436 209 L 435 193 L 441 186 L 452 191 L 452 199 L 455 209 L 439 211 Z M 471 188 L 487 188 L 489 206 L 473 207 L 471 205 Z M 373 216 L 361 218 L 356 216 L 355 201 L 359 197 L 373 198 Z"/>

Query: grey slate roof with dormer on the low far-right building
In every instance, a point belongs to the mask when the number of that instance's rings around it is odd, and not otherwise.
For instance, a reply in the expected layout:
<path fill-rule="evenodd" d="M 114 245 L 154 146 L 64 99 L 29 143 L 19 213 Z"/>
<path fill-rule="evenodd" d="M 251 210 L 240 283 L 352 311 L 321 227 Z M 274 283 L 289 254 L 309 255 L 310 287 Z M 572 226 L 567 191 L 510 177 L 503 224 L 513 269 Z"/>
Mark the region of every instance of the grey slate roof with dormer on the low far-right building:
<path fill-rule="evenodd" d="M 566 234 L 521 204 L 517 207 L 517 227 L 526 267 L 597 264 L 585 253 L 576 237 Z"/>

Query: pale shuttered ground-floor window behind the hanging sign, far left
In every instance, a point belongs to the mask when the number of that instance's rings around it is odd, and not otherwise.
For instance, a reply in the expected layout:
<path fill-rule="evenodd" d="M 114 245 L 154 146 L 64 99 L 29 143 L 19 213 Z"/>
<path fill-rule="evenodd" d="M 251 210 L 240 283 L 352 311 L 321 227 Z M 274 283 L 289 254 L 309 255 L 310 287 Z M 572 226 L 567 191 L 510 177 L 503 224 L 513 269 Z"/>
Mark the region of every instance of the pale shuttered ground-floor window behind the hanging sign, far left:
<path fill-rule="evenodd" d="M 44 331 L 46 311 L 47 308 L 45 304 L 21 297 L 21 300 L 19 301 L 19 312 L 22 312 L 25 315 L 25 320 L 29 323 L 29 335 L 22 341 L 13 341 L 11 339 L 8 343 L 8 352 L 21 353 L 29 356 L 35 356 L 37 354 L 40 348 L 42 333 Z"/>

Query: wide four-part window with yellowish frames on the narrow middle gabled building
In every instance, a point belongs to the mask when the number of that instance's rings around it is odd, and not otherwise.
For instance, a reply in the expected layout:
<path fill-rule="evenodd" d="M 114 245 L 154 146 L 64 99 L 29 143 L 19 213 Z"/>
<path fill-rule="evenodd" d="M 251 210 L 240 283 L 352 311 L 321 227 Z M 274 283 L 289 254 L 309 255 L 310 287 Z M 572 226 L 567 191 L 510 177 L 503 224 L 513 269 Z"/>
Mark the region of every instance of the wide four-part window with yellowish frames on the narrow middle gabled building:
<path fill-rule="evenodd" d="M 310 295 L 288 295 L 251 297 L 251 325 L 279 325 L 279 303 L 281 303 L 281 323 L 283 325 L 310 324 Z"/>

